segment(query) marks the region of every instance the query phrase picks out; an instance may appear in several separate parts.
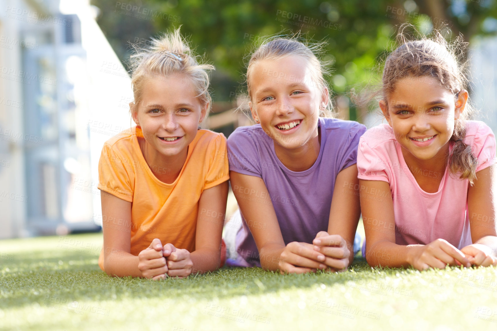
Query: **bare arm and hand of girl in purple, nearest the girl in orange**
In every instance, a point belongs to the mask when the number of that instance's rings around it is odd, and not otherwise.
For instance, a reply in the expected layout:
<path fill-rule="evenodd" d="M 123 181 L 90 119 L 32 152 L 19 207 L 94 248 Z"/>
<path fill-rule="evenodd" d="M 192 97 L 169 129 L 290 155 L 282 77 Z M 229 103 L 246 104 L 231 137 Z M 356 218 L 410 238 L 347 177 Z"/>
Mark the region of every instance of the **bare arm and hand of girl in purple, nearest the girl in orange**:
<path fill-rule="evenodd" d="M 266 270 L 309 272 L 320 267 L 325 256 L 310 243 L 289 243 L 285 246 L 276 213 L 262 178 L 230 171 L 233 192 L 240 211 L 259 251 L 260 264 Z M 322 265 L 322 268 L 325 268 Z"/>

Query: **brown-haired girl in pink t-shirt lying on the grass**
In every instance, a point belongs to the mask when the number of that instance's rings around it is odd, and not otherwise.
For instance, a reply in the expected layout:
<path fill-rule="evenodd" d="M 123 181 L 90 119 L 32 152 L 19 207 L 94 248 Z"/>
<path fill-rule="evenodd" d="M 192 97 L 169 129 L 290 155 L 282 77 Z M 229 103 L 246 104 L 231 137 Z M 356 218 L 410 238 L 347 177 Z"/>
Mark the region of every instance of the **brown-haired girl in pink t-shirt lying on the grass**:
<path fill-rule="evenodd" d="M 405 41 L 386 60 L 388 125 L 368 130 L 357 155 L 371 266 L 497 265 L 496 141 L 485 123 L 465 120 L 466 67 L 455 54 L 464 46 L 437 33 Z"/>

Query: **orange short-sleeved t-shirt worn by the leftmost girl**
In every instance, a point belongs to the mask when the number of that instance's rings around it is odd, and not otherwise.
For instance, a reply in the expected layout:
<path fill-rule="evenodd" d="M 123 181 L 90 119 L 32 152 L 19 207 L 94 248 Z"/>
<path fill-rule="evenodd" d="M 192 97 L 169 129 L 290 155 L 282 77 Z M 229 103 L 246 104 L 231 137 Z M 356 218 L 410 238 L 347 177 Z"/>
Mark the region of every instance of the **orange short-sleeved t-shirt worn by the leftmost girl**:
<path fill-rule="evenodd" d="M 132 202 L 131 225 L 110 220 L 105 227 L 130 231 L 131 254 L 138 255 L 154 238 L 176 248 L 195 250 L 198 201 L 202 192 L 229 179 L 226 138 L 222 133 L 198 130 L 188 145 L 178 177 L 166 184 L 153 174 L 143 157 L 133 127 L 105 142 L 98 164 L 98 188 Z M 167 171 L 154 169 L 154 171 Z M 105 229 L 104 229 L 105 231 Z M 98 265 L 103 268 L 103 249 Z"/>

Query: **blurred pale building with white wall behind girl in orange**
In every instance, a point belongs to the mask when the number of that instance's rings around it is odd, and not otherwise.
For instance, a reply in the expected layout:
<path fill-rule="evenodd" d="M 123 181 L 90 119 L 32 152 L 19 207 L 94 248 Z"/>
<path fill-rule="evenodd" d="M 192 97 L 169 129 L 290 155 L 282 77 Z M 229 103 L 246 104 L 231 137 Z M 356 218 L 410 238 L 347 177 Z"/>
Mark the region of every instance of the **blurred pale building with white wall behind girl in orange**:
<path fill-rule="evenodd" d="M 97 231 L 98 159 L 130 126 L 130 78 L 87 0 L 0 11 L 0 238 Z"/>

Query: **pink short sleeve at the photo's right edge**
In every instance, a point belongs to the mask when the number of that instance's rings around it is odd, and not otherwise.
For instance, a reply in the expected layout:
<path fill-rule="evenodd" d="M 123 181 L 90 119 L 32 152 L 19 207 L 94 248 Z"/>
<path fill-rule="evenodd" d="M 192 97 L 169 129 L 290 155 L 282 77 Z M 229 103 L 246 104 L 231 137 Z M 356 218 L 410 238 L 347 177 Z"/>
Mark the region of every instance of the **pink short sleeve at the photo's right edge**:
<path fill-rule="evenodd" d="M 472 149 L 478 159 L 476 171 L 483 170 L 497 162 L 496 138 L 492 129 L 483 122 L 479 123 Z"/>

